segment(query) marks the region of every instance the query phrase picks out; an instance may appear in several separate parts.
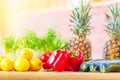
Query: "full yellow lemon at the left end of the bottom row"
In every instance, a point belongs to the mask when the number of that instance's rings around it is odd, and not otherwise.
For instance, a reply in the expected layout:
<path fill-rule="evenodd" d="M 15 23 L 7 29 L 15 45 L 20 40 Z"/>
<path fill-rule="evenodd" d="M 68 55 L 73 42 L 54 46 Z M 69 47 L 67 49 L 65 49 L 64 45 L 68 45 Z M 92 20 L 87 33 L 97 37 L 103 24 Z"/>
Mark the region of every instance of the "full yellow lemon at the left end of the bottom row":
<path fill-rule="evenodd" d="M 13 62 L 9 58 L 2 59 L 0 66 L 3 71 L 13 70 Z"/>

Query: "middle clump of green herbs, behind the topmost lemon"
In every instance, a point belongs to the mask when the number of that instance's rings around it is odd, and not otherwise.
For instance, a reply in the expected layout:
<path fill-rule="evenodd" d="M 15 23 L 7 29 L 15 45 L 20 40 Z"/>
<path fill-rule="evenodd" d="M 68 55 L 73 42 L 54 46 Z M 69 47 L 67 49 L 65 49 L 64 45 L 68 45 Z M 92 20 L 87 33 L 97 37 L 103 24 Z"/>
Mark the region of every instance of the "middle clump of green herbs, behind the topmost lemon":
<path fill-rule="evenodd" d="M 20 38 L 20 42 L 25 48 L 35 50 L 40 48 L 40 37 L 33 30 L 28 30 L 25 35 Z"/>

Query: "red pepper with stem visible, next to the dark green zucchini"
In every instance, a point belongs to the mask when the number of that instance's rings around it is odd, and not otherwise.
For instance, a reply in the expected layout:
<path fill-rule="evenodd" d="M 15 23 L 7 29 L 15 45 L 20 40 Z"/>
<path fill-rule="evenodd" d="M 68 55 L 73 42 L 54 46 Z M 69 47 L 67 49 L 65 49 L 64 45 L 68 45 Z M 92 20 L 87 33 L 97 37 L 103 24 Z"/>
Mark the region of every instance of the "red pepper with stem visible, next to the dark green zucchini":
<path fill-rule="evenodd" d="M 79 71 L 80 64 L 84 62 L 83 53 L 80 50 L 77 50 L 71 56 L 68 65 L 65 70 L 67 71 Z"/>

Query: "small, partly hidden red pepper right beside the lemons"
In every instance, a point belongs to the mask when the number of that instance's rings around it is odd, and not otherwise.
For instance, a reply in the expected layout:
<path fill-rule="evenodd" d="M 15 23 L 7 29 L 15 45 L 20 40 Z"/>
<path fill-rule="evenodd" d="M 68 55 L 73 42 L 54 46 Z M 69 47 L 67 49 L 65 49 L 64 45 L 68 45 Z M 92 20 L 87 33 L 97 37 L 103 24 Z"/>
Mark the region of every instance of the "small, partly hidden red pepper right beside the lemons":
<path fill-rule="evenodd" d="M 43 55 L 40 57 L 40 60 L 43 62 L 43 68 L 44 69 L 48 69 L 48 67 L 46 66 L 46 62 L 47 60 L 50 58 L 52 52 L 45 52 L 43 53 Z"/>

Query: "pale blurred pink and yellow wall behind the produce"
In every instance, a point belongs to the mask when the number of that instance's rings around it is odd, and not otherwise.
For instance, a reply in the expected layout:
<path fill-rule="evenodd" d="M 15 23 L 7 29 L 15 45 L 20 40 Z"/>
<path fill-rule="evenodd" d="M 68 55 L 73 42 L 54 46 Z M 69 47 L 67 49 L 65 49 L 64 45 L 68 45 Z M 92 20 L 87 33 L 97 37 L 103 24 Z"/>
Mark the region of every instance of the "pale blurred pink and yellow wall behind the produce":
<path fill-rule="evenodd" d="M 43 34 L 47 27 L 53 27 L 58 32 L 70 38 L 72 33 L 68 27 L 72 8 L 79 0 L 0 0 L 0 36 L 14 33 L 22 35 L 31 28 Z M 108 4 L 119 0 L 92 0 L 94 15 L 91 25 L 93 29 L 89 35 L 92 41 L 93 53 L 102 52 L 103 44 L 108 39 L 104 32 L 104 13 Z M 98 21 L 99 20 L 99 21 Z M 102 42 L 102 43 L 101 43 Z M 97 44 L 97 45 L 96 45 Z M 97 46 L 97 47 L 96 47 Z"/>

